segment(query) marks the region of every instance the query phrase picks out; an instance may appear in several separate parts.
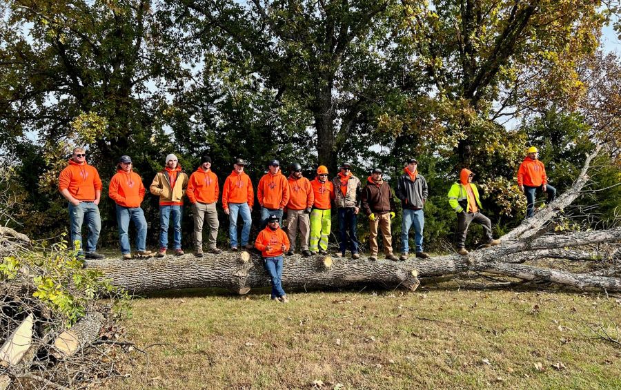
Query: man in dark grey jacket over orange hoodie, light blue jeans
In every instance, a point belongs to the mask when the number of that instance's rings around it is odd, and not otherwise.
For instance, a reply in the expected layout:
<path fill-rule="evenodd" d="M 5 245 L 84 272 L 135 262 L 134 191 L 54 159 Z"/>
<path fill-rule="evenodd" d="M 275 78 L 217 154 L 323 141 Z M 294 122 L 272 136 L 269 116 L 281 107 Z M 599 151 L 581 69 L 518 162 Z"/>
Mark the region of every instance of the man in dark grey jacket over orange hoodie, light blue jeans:
<path fill-rule="evenodd" d="M 400 260 L 408 260 L 408 233 L 412 225 L 414 225 L 416 257 L 422 259 L 429 257 L 427 253 L 423 252 L 422 248 L 423 228 L 425 226 L 423 207 L 428 194 L 427 182 L 418 173 L 418 161 L 413 158 L 408 159 L 404 173 L 397 181 L 396 191 L 396 195 L 401 199 L 401 206 L 403 207 L 403 220 L 401 224 L 402 253 Z"/>

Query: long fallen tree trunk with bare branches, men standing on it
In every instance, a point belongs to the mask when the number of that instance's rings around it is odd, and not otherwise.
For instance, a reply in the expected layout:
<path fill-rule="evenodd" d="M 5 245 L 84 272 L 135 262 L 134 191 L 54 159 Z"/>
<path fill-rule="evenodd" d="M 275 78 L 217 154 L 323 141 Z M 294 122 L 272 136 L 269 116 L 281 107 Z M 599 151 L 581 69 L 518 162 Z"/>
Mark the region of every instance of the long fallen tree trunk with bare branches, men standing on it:
<path fill-rule="evenodd" d="M 415 290 L 419 278 L 440 277 L 469 272 L 486 272 L 506 275 L 522 280 L 553 282 L 576 289 L 606 289 L 620 291 L 621 280 L 614 273 L 571 273 L 521 264 L 544 257 L 569 260 L 589 260 L 592 255 L 584 250 L 570 250 L 577 246 L 619 242 L 621 228 L 604 231 L 549 233 L 546 224 L 569 206 L 588 181 L 587 171 L 591 160 L 601 146 L 586 157 L 582 173 L 573 186 L 555 200 L 502 237 L 502 244 L 492 248 L 472 251 L 467 256 L 447 255 L 427 260 L 391 262 L 368 261 L 366 257 L 351 260 L 344 257 L 315 255 L 286 256 L 282 275 L 285 289 L 334 289 L 361 284 L 384 286 L 386 289 Z M 617 252 L 618 253 L 618 252 Z M 617 257 L 617 253 L 611 259 Z M 219 287 L 236 293 L 270 286 L 263 260 L 257 251 L 224 252 L 196 258 L 151 258 L 146 260 L 89 260 L 88 268 L 103 271 L 112 284 L 130 293 L 148 293 L 167 289 Z"/>

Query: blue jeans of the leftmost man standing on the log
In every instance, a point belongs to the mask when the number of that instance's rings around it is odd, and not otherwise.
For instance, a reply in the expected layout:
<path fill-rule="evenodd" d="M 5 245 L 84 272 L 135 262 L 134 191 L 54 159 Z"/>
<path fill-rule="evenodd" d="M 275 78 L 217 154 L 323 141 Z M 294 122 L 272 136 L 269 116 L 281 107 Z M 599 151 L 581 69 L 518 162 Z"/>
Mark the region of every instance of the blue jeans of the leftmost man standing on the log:
<path fill-rule="evenodd" d="M 86 252 L 95 252 L 99 231 L 101 231 L 101 218 L 99 207 L 93 202 L 80 202 L 77 206 L 69 204 L 69 228 L 70 240 L 74 248 L 79 248 L 79 255 L 83 255 L 82 246 L 82 223 L 86 220 L 88 238 L 86 239 Z"/>

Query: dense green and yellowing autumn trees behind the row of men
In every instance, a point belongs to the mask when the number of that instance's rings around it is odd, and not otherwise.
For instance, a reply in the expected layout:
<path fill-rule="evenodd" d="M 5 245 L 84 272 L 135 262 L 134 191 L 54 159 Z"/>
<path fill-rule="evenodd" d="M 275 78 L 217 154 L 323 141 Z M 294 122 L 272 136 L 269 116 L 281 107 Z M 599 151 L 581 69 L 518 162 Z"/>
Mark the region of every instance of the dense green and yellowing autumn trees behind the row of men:
<path fill-rule="evenodd" d="M 255 184 L 275 157 L 308 177 L 349 160 L 364 181 L 380 166 L 395 184 L 415 155 L 440 250 L 464 166 L 498 233 L 520 222 L 514 176 L 530 144 L 562 191 L 607 142 L 591 189 L 613 187 L 585 200 L 599 205 L 589 222 L 620 206 L 620 61 L 597 51 L 615 10 L 598 1 L 3 0 L 0 12 L 0 148 L 14 218 L 33 237 L 66 231 L 57 177 L 76 145 L 104 188 L 123 154 L 146 187 L 168 153 L 188 173 L 209 153 L 221 183 L 244 157 Z M 106 245 L 113 206 L 100 204 Z M 153 244 L 157 198 L 143 208 Z"/>

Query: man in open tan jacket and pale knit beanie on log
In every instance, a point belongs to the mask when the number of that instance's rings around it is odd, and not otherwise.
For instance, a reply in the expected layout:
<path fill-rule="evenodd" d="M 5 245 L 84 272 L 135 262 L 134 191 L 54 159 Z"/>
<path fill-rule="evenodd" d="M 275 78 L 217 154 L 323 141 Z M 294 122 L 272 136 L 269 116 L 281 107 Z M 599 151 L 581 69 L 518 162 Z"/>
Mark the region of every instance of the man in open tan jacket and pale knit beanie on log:
<path fill-rule="evenodd" d="M 158 257 L 166 256 L 168 249 L 168 226 L 172 219 L 172 249 L 175 255 L 184 255 L 181 249 L 181 220 L 184 216 L 184 195 L 188 175 L 181 170 L 177 156 L 166 156 L 166 167 L 153 178 L 149 190 L 159 196 L 159 251 Z"/>

